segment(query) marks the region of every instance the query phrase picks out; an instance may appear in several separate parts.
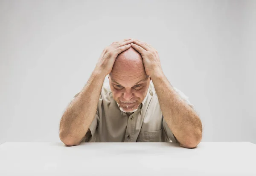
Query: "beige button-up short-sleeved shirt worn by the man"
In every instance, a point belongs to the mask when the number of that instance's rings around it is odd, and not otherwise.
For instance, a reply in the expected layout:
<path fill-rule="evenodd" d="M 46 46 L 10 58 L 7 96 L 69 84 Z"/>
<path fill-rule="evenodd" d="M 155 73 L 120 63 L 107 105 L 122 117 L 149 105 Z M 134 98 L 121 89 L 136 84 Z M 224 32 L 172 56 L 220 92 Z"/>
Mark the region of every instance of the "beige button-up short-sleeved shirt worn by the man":
<path fill-rule="evenodd" d="M 175 91 L 189 105 L 186 97 L 177 88 Z M 105 82 L 99 97 L 98 107 L 89 130 L 82 142 L 176 142 L 160 109 L 152 81 L 148 93 L 133 114 L 124 113 L 112 97 L 109 82 Z"/>

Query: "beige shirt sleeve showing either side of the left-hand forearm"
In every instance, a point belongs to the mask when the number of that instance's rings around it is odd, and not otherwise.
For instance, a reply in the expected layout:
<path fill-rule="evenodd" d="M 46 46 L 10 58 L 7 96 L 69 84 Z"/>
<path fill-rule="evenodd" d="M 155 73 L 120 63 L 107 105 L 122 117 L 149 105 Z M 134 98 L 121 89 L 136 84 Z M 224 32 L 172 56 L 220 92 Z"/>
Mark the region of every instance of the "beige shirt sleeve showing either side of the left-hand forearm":
<path fill-rule="evenodd" d="M 74 98 L 76 98 L 78 96 L 78 94 L 76 94 L 74 96 Z M 102 100 L 102 96 L 100 95 L 99 96 L 99 103 L 98 103 L 98 106 L 97 106 L 95 116 L 93 118 L 93 122 L 89 126 L 89 129 L 87 130 L 87 132 L 86 132 L 86 134 L 85 134 L 85 136 L 84 136 L 84 138 L 81 142 L 89 142 L 90 139 L 92 138 L 92 136 L 94 136 L 95 133 L 96 133 L 96 129 L 97 129 L 98 124 L 99 124 L 99 104 L 100 104 L 101 100 Z"/>

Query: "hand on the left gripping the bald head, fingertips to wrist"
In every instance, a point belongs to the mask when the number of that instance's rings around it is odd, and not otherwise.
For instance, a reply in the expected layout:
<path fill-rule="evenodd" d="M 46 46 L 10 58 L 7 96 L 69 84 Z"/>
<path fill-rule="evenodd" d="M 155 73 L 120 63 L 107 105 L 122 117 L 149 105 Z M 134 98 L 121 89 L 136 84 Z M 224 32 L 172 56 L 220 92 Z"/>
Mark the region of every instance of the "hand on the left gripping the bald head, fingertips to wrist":
<path fill-rule="evenodd" d="M 95 71 L 103 73 L 105 76 L 110 74 L 118 54 L 130 48 L 132 42 L 133 40 L 128 38 L 119 42 L 113 42 L 111 45 L 107 46 L 99 57 Z"/>

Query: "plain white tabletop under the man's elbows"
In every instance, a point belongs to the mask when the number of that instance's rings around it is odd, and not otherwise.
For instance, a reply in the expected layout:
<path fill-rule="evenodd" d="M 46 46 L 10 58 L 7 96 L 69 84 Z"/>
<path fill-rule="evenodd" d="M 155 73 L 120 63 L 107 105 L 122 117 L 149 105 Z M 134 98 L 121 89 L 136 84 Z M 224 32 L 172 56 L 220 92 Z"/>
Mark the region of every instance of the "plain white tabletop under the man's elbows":
<path fill-rule="evenodd" d="M 0 176 L 256 176 L 256 145 L 172 143 L 6 142 Z"/>

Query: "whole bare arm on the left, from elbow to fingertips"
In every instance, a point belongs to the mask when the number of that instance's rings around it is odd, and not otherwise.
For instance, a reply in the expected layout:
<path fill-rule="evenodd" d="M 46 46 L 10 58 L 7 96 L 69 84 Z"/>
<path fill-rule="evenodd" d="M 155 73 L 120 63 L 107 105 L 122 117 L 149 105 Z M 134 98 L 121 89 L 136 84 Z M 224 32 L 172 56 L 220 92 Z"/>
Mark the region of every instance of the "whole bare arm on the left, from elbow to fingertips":
<path fill-rule="evenodd" d="M 118 54 L 130 48 L 131 42 L 131 39 L 121 40 L 103 50 L 87 84 L 61 117 L 59 137 L 64 144 L 79 145 L 83 140 L 95 116 L 104 79 Z"/>

